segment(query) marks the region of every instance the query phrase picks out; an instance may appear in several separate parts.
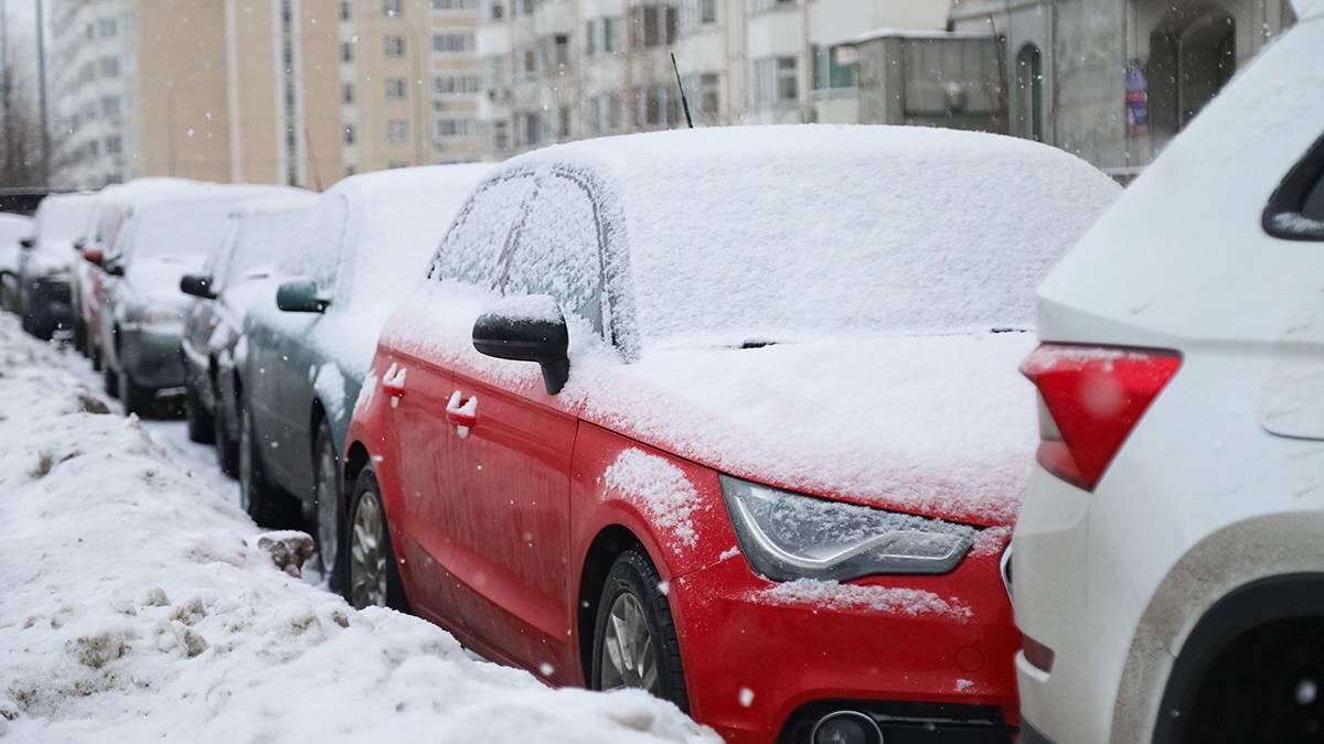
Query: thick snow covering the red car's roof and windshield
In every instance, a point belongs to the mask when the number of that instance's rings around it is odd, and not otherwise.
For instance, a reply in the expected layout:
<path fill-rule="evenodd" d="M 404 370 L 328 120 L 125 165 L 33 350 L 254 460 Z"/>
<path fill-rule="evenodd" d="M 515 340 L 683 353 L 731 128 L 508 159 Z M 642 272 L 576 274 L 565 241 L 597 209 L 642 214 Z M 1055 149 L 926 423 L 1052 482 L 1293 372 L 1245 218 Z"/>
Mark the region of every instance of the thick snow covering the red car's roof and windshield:
<path fill-rule="evenodd" d="M 1027 328 L 1033 287 L 1120 191 L 1057 148 L 927 127 L 677 130 L 507 168 L 548 164 L 593 173 L 614 207 L 628 352 Z"/>

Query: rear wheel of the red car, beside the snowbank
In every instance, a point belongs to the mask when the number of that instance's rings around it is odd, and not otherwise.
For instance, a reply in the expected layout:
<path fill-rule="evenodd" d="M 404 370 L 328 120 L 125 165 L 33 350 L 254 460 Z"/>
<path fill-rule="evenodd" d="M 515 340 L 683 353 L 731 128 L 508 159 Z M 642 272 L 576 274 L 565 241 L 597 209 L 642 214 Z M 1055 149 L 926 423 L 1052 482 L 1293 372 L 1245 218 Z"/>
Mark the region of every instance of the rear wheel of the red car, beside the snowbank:
<path fill-rule="evenodd" d="M 400 567 L 391 545 L 391 526 L 387 522 L 381 488 L 372 467 L 364 467 L 354 482 L 354 515 L 350 523 L 350 544 L 344 598 L 355 609 L 385 606 L 409 612 Z"/>

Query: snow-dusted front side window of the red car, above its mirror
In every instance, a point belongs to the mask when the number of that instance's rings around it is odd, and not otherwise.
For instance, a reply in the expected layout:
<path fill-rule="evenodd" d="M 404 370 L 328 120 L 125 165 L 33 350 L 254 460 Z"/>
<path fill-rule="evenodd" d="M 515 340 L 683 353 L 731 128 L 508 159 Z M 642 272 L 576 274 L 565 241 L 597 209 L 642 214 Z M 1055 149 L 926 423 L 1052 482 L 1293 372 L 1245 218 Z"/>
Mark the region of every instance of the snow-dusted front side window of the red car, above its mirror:
<path fill-rule="evenodd" d="M 549 294 L 601 331 L 602 253 L 588 189 L 565 176 L 545 177 L 516 241 L 504 294 Z"/>

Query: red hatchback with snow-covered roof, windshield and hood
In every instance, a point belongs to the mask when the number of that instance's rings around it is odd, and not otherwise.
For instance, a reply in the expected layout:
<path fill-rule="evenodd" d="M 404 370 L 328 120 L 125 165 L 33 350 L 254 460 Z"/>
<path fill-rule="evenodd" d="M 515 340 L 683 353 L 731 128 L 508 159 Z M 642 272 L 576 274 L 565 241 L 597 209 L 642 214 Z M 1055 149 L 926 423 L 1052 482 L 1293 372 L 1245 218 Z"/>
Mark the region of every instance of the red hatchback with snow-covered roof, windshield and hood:
<path fill-rule="evenodd" d="M 728 741 L 1010 741 L 1017 363 L 1031 289 L 1116 193 L 902 127 L 508 162 L 383 331 L 347 594 Z"/>

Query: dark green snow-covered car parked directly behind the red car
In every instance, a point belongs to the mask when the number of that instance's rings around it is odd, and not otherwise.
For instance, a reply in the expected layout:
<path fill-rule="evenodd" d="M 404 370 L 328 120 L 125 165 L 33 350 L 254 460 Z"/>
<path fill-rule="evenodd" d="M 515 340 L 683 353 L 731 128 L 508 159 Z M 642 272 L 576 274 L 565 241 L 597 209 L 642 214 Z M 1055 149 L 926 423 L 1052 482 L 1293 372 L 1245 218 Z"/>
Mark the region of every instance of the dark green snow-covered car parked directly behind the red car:
<path fill-rule="evenodd" d="M 241 412 L 225 434 L 238 437 L 241 503 L 260 523 L 298 506 L 332 582 L 344 528 L 340 451 L 377 334 L 490 171 L 432 165 L 339 181 L 312 207 L 297 248 L 302 277 L 244 319 L 236 375 L 218 389 L 222 406 L 237 401 Z"/>

